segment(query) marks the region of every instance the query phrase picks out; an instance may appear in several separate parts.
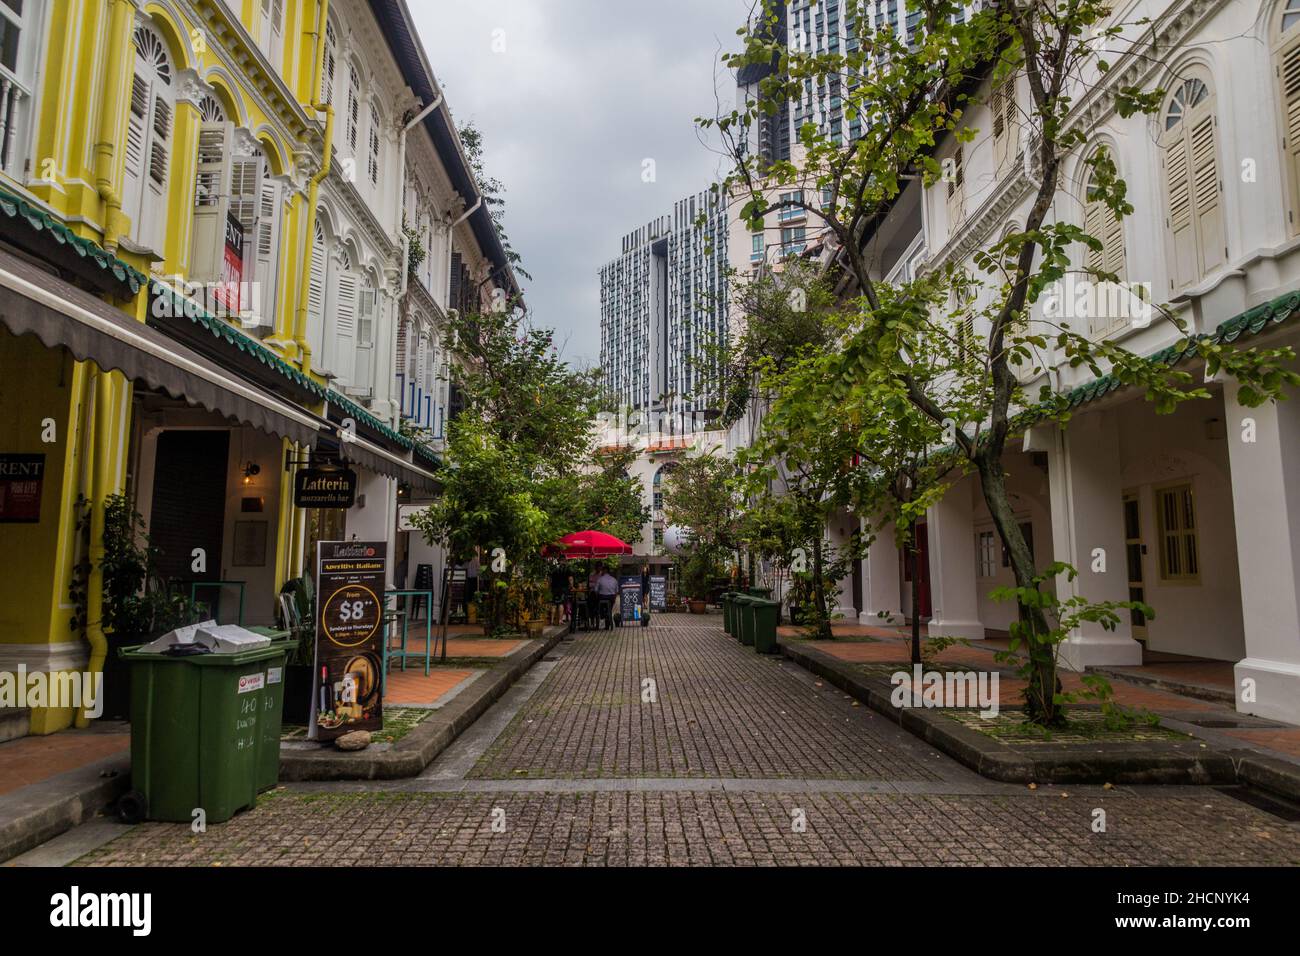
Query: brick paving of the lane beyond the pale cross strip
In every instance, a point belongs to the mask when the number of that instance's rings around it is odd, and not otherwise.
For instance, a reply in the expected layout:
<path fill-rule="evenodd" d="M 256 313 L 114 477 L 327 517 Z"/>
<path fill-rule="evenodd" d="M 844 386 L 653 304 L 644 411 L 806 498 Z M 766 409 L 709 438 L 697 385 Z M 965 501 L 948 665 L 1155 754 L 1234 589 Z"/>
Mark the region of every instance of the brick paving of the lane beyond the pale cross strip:
<path fill-rule="evenodd" d="M 471 777 L 937 779 L 897 724 L 742 648 L 719 617 L 654 620 L 581 633 Z"/>

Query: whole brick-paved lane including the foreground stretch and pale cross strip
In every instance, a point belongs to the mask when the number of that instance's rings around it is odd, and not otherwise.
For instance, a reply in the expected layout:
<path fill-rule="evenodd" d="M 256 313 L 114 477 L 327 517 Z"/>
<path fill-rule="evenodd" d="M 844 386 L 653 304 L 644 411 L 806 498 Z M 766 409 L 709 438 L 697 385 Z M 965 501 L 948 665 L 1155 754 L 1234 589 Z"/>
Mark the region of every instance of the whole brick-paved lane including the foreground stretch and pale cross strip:
<path fill-rule="evenodd" d="M 562 643 L 411 780 L 292 784 L 82 865 L 1269 865 L 1300 826 L 1214 788 L 985 780 L 711 615 Z M 1106 829 L 1095 832 L 1096 809 Z M 83 827 L 84 830 L 86 827 Z M 69 835 L 74 836 L 74 835 Z"/>

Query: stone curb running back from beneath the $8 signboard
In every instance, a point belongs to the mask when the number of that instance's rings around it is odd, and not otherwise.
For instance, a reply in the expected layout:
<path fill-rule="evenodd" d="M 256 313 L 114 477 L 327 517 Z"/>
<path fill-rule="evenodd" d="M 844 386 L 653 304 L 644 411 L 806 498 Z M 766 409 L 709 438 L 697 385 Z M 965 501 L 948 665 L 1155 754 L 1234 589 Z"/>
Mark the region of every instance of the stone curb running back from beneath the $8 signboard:
<path fill-rule="evenodd" d="M 421 721 L 390 750 L 281 750 L 280 782 L 394 780 L 419 777 L 452 740 L 500 700 L 529 667 L 550 653 L 566 633 L 568 628 L 563 624 L 546 628 L 536 646 L 521 648 L 490 667 L 464 693 Z"/>

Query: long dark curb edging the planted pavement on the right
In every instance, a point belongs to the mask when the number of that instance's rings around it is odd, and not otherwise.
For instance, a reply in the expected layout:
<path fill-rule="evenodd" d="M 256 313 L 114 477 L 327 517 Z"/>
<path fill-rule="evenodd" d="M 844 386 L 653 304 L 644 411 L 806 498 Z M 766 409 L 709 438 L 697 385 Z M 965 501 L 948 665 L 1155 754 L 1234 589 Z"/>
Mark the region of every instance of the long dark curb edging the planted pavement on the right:
<path fill-rule="evenodd" d="M 855 670 L 816 648 L 802 646 L 785 637 L 777 639 L 781 653 L 805 670 L 824 678 L 876 713 L 888 717 L 904 730 L 931 747 L 958 760 L 982 777 L 1002 783 L 1115 783 L 1115 784 L 1223 784 L 1238 782 L 1238 767 L 1230 754 L 1201 749 L 1200 741 L 1170 743 L 1152 747 L 1141 743 L 1117 743 L 1105 752 L 1080 753 L 1079 748 L 1041 747 L 1036 753 L 1023 753 L 993 740 L 979 731 L 926 710 L 896 708 L 889 700 L 893 685 Z M 1186 748 L 1186 749 L 1184 749 Z M 1195 748 L 1195 749 L 1192 749 Z M 1264 758 L 1268 760 L 1268 758 Z M 1260 758 L 1243 758 L 1242 763 L 1260 763 Z M 1256 767 L 1261 779 L 1284 773 L 1273 763 L 1290 767 L 1300 788 L 1300 767 L 1268 760 L 1269 767 Z M 1244 779 L 1244 778 L 1243 778 Z M 1262 784 L 1261 784 L 1262 786 Z"/>

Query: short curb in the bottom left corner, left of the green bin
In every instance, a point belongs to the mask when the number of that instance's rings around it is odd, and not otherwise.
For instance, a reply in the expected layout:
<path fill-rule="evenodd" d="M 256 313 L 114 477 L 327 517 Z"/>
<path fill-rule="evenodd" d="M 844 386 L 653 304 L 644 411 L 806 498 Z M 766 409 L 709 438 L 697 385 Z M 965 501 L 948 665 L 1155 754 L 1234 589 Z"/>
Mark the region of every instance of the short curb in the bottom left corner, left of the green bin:
<path fill-rule="evenodd" d="M 9 817 L 0 823 L 0 862 L 55 839 L 112 804 L 126 791 L 130 767 L 130 753 L 120 753 L 0 797 L 0 809 Z"/>

